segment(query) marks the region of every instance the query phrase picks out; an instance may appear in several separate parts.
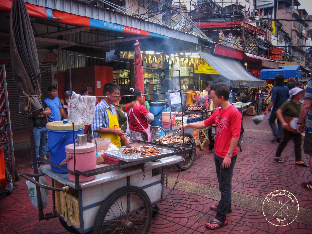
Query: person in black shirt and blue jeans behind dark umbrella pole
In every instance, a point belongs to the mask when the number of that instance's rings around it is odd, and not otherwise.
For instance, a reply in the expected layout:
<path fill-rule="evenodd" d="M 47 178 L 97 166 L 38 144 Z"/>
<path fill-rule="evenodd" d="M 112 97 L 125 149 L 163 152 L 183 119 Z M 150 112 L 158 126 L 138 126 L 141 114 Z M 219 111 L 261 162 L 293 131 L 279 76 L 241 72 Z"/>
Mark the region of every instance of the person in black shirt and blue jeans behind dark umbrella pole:
<path fill-rule="evenodd" d="M 40 90 L 41 97 L 41 90 Z M 34 129 L 34 138 L 35 138 L 35 149 L 36 149 L 36 158 L 41 156 L 44 158 L 44 148 L 46 146 L 46 135 L 48 134 L 46 131 L 46 123 L 47 123 L 47 115 L 50 115 L 52 111 L 46 105 L 46 103 L 42 102 L 42 107 L 44 112 L 41 115 L 32 117 L 32 125 Z M 32 157 L 30 157 L 30 164 L 33 167 Z"/>

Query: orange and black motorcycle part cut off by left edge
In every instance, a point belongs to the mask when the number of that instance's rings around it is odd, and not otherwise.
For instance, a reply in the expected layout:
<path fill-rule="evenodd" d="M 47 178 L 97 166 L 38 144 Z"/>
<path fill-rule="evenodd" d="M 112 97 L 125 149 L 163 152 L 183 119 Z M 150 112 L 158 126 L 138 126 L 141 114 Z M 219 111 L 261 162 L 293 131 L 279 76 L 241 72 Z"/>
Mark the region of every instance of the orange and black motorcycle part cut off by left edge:
<path fill-rule="evenodd" d="M 0 199 L 2 194 L 13 193 L 13 176 L 10 168 L 4 162 L 4 153 L 0 148 Z"/>

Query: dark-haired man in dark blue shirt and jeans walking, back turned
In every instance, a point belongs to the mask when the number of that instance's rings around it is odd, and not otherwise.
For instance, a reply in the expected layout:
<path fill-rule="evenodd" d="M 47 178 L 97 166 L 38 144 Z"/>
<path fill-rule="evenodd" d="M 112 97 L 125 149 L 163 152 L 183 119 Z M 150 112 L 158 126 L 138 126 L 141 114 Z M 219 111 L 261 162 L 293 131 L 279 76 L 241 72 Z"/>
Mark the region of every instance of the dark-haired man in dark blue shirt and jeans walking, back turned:
<path fill-rule="evenodd" d="M 276 84 L 276 86 L 272 91 L 271 101 L 268 107 L 266 108 L 266 111 L 264 112 L 264 114 L 267 115 L 269 109 L 273 106 L 271 110 L 269 124 L 274 134 L 274 138 L 272 141 L 276 140 L 277 142 L 281 142 L 282 140 L 283 126 L 280 120 L 277 119 L 277 128 L 276 128 L 275 124 L 275 119 L 277 118 L 276 110 L 278 110 L 280 106 L 290 97 L 289 89 L 286 85 L 284 85 L 284 79 L 285 77 L 282 74 L 274 76 L 274 83 Z"/>

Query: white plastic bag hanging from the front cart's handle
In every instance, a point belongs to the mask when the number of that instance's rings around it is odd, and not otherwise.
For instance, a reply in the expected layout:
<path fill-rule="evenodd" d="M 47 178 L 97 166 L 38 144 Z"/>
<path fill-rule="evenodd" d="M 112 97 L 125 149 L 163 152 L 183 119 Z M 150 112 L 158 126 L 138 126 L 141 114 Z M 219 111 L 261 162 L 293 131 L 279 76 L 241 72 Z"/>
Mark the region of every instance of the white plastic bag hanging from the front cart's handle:
<path fill-rule="evenodd" d="M 44 185 L 49 185 L 49 183 L 47 182 L 44 176 L 39 177 L 39 182 Z M 36 209 L 38 210 L 39 206 L 38 206 L 36 185 L 28 180 L 26 181 L 26 184 L 28 187 L 29 198 L 32 201 L 32 204 L 34 205 L 34 207 L 36 207 Z M 48 200 L 49 190 L 40 188 L 40 192 L 41 192 L 42 207 L 46 208 L 46 206 L 49 204 L 49 200 Z"/>

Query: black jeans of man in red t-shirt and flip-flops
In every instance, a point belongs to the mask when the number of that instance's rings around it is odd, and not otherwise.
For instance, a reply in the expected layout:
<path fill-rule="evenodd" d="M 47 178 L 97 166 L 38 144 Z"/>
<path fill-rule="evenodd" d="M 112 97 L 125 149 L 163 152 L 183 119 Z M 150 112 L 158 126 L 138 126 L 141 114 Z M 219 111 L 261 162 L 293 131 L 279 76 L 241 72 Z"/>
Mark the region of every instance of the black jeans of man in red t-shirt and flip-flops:
<path fill-rule="evenodd" d="M 230 168 L 222 168 L 223 159 L 215 154 L 215 164 L 217 177 L 219 181 L 219 190 L 221 192 L 221 199 L 217 207 L 216 219 L 220 222 L 225 222 L 225 214 L 231 209 L 232 204 L 232 177 L 234 165 L 236 163 L 237 154 L 231 158 Z"/>

